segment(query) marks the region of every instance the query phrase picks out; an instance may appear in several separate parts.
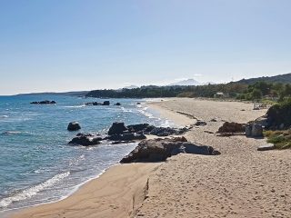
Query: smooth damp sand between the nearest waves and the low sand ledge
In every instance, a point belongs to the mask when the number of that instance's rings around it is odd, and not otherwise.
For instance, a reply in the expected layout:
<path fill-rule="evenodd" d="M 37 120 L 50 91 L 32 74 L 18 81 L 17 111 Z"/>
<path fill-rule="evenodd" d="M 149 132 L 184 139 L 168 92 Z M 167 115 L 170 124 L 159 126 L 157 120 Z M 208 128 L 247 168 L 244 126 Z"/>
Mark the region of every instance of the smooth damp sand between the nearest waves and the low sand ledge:
<path fill-rule="evenodd" d="M 135 207 L 138 207 L 138 204 L 144 199 L 143 193 L 140 192 L 146 187 L 148 174 L 155 171 L 156 167 L 160 164 L 162 163 L 117 163 L 105 170 L 99 177 L 80 184 L 74 193 L 64 199 L 53 203 L 42 203 L 16 209 L 6 213 L 5 217 L 26 218 L 45 216 L 53 218 L 61 213 L 66 214 L 65 217 L 84 217 L 84 213 L 88 213 L 87 204 L 95 203 L 96 205 L 92 209 L 94 212 L 89 212 L 94 214 L 92 217 L 99 213 L 102 217 L 112 217 L 112 215 L 114 217 L 127 217 L 135 213 Z M 132 188 L 132 186 L 135 188 Z M 126 192 L 124 192 L 124 187 L 128 188 Z M 92 195 L 94 195 L 93 199 Z M 117 199 L 115 195 L 120 195 L 121 199 Z M 134 202 L 131 195 L 136 195 Z M 106 198 L 109 198 L 107 203 L 105 203 Z M 112 202 L 112 198 L 115 199 L 114 202 Z M 83 205 L 78 206 L 77 203 Z M 107 206 L 108 203 L 111 203 L 109 208 Z M 115 204 L 119 206 L 115 207 Z M 70 213 L 70 211 L 75 210 L 79 213 Z"/>

